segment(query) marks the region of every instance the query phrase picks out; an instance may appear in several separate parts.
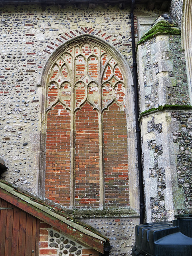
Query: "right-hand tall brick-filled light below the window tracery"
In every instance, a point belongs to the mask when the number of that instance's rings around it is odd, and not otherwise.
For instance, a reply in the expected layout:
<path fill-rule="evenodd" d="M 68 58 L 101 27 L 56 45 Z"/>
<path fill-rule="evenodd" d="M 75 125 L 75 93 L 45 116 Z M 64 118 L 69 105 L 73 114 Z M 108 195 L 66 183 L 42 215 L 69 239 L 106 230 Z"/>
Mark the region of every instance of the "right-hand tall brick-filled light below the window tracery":
<path fill-rule="evenodd" d="M 103 113 L 105 203 L 109 207 L 128 206 L 127 122 L 117 104 Z"/>

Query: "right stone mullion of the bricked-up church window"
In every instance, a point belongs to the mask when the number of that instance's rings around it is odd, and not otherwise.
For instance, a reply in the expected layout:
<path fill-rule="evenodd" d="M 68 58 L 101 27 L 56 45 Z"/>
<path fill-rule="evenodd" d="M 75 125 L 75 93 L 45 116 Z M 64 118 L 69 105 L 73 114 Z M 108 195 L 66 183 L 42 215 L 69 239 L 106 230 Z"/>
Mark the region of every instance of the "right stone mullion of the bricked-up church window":
<path fill-rule="evenodd" d="M 102 75 L 101 74 L 101 55 L 99 51 L 98 56 L 98 85 L 99 85 L 99 112 L 98 112 L 98 122 L 99 122 L 99 208 L 105 208 L 105 180 L 104 180 L 104 163 L 103 163 L 103 123 L 102 123 Z M 105 70 L 105 69 L 104 69 Z"/>

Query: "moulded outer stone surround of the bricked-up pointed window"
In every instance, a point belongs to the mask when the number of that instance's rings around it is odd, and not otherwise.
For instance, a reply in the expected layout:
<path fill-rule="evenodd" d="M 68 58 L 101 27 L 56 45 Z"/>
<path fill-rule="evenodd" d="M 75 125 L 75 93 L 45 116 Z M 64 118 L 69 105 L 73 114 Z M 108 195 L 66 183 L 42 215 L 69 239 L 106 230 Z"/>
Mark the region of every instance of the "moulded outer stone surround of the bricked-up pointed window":
<path fill-rule="evenodd" d="M 89 30 L 91 31 L 91 30 Z M 89 32 L 87 32 L 89 33 Z M 132 78 L 132 74 L 131 74 L 131 70 L 127 64 L 127 62 L 124 60 L 123 56 L 121 56 L 121 54 L 115 50 L 115 48 L 112 48 L 109 44 L 107 44 L 106 42 L 103 42 L 103 40 L 100 40 L 98 38 L 96 38 L 95 36 L 91 36 L 90 34 L 85 34 L 82 36 L 78 36 L 75 37 L 75 39 L 71 39 L 69 41 L 67 41 L 65 44 L 59 46 L 57 48 L 57 50 L 55 50 L 55 52 L 53 52 L 53 54 L 51 54 L 46 66 L 44 67 L 44 72 L 42 74 L 41 80 L 40 80 L 40 85 L 44 88 L 44 93 L 43 93 L 43 97 L 45 97 L 46 94 L 46 84 L 48 83 L 47 78 L 49 77 L 50 74 L 50 68 L 53 65 L 53 63 L 56 62 L 58 56 L 61 56 L 64 52 L 67 52 L 67 50 L 69 50 L 71 45 L 76 44 L 77 42 L 79 42 L 79 44 L 81 43 L 91 43 L 91 44 L 95 44 L 96 46 L 99 46 L 100 48 L 103 48 L 106 50 L 106 52 L 108 52 L 109 54 L 111 54 L 111 56 L 115 56 L 115 59 L 118 62 L 118 68 L 120 70 L 123 70 L 123 74 L 124 74 L 124 83 L 123 86 L 125 86 L 126 88 L 126 106 L 127 107 L 123 107 L 125 108 L 125 118 L 127 119 L 127 136 L 129 138 L 129 145 L 128 145 L 128 152 L 130 152 L 130 154 L 128 154 L 128 162 L 129 164 L 129 187 L 130 187 L 130 206 L 133 208 L 138 208 L 138 192 L 137 190 L 137 173 L 135 172 L 136 169 L 136 153 L 135 153 L 135 132 L 134 132 L 134 126 L 135 126 L 135 120 L 134 120 L 134 105 L 133 105 L 133 89 L 132 89 L 132 84 L 133 84 L 133 78 Z M 116 77 L 114 76 L 114 78 L 118 78 L 120 76 L 118 76 L 118 69 L 116 69 L 117 74 Z M 112 79 L 110 78 L 110 82 L 114 83 L 114 88 L 117 89 L 117 95 L 118 95 L 118 80 Z M 114 80 L 112 82 L 112 80 Z M 53 82 L 53 81 L 51 81 Z M 105 81 L 104 81 L 105 82 Z M 119 80 L 120 83 L 120 80 Z M 116 86 L 116 87 L 115 87 Z M 73 86 L 72 86 L 73 87 Z M 104 86 L 103 86 L 104 88 Z M 60 92 L 57 92 L 57 95 L 59 95 Z M 101 93 L 101 92 L 100 92 Z M 115 92 L 116 93 L 116 92 Z M 121 94 L 121 92 L 120 92 Z M 121 95 L 120 95 L 121 97 Z M 116 100 L 116 103 L 118 103 L 118 101 Z M 57 103 L 58 105 L 59 103 Z M 111 103 L 109 103 L 111 104 Z M 113 100 L 113 104 L 114 104 L 114 100 Z M 55 105 L 55 107 L 57 106 Z M 55 108 L 54 107 L 54 108 Z M 63 106 L 62 106 L 63 108 Z M 52 110 L 51 110 L 52 111 Z M 71 110 L 69 110 L 70 112 Z M 45 166 L 43 164 L 43 152 L 45 151 L 45 141 L 46 141 L 46 100 L 44 100 L 42 102 L 42 131 L 41 131 L 41 145 L 40 145 L 40 152 L 42 152 L 42 159 L 40 160 L 40 175 L 39 175 L 39 184 L 40 185 L 40 189 L 39 189 L 39 195 L 41 197 L 44 197 L 45 194 L 45 187 L 44 185 L 44 180 L 45 180 Z M 101 126 L 101 124 L 100 124 Z M 72 129 L 73 130 L 73 129 Z M 73 131 L 72 131 L 73 132 Z M 134 148 L 134 150 L 133 150 Z M 74 147 L 73 147 L 74 150 Z M 71 151 L 71 155 L 74 154 L 73 150 Z M 103 163 L 100 162 L 100 165 L 103 165 Z M 74 166 L 72 166 L 71 168 L 74 169 Z M 101 172 L 101 171 L 100 171 Z M 73 175 L 72 175 L 73 176 Z M 71 177 L 72 177 L 71 176 Z M 70 180 L 71 180 L 70 177 Z M 75 187 L 75 184 L 73 183 L 72 187 Z M 70 197 L 72 196 L 73 191 L 70 191 Z M 100 191 L 101 194 L 101 191 Z M 104 195 L 100 196 L 101 198 L 103 197 L 103 202 L 105 201 L 104 199 Z M 74 201 L 75 199 L 73 198 L 73 200 L 71 200 L 70 202 L 70 207 L 72 207 L 72 205 L 74 205 Z M 102 201 L 102 200 L 101 200 Z M 100 208 L 103 207 L 103 203 L 100 203 Z"/>

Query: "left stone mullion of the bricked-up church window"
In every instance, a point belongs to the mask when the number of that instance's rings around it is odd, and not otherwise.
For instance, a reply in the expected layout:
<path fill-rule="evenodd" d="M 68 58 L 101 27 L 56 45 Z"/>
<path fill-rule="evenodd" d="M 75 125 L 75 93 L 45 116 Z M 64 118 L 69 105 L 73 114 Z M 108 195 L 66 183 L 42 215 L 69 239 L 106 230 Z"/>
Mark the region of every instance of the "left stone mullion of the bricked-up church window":
<path fill-rule="evenodd" d="M 75 206 L 75 122 L 74 122 L 74 110 L 75 110 L 75 65 L 74 65 L 74 50 L 73 46 L 73 65 L 72 65 L 72 76 L 73 79 L 71 81 L 71 166 L 70 166 L 70 208 L 74 208 Z"/>

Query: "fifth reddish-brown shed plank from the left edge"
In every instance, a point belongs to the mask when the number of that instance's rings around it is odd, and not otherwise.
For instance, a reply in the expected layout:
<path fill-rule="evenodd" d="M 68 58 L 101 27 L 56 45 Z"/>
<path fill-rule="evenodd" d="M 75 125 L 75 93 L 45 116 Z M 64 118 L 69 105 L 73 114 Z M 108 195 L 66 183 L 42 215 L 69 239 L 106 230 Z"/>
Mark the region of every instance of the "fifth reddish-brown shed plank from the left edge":
<path fill-rule="evenodd" d="M 33 217 L 27 214 L 25 256 L 32 255 L 32 229 L 33 229 Z"/>

